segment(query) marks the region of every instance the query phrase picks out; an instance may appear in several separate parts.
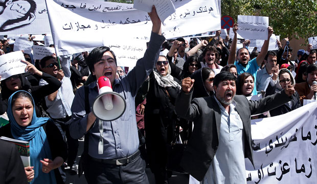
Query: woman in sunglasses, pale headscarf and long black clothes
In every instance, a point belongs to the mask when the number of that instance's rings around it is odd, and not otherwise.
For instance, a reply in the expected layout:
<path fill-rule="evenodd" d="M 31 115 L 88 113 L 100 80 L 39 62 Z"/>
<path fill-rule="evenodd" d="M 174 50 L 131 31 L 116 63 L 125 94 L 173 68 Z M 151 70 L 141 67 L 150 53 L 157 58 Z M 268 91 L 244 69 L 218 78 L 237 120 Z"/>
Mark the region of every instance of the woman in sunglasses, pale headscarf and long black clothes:
<path fill-rule="evenodd" d="M 178 80 L 171 76 L 167 58 L 159 56 L 150 74 L 144 112 L 146 149 L 155 183 L 167 182 L 167 144 L 173 140 L 178 119 L 174 102 L 179 89 Z"/>

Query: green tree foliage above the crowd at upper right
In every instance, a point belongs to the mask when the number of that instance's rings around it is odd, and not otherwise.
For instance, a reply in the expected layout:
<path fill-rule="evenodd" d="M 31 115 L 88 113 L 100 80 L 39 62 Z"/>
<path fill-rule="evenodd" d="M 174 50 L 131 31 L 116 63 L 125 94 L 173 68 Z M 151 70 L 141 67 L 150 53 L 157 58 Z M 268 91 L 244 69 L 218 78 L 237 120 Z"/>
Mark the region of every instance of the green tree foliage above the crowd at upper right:
<path fill-rule="evenodd" d="M 275 34 L 289 38 L 317 36 L 316 0 L 221 0 L 221 15 L 268 16 Z"/>

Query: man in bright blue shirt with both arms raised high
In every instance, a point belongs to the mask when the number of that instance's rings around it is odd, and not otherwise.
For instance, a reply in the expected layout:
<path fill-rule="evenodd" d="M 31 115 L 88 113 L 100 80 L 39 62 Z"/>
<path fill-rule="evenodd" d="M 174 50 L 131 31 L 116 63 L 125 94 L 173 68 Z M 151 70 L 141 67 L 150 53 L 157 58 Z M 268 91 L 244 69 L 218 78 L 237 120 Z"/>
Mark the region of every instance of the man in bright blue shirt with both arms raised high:
<path fill-rule="evenodd" d="M 253 75 L 255 79 L 257 79 L 257 71 L 259 70 L 259 67 L 262 64 L 262 61 L 264 60 L 267 50 L 268 50 L 268 43 L 269 43 L 269 38 L 273 34 L 273 28 L 268 27 L 268 33 L 267 33 L 267 39 L 264 41 L 261 52 L 259 55 L 250 60 L 250 53 L 246 48 L 241 48 L 238 50 L 237 55 L 236 55 L 236 49 L 237 49 L 237 30 L 238 30 L 238 25 L 234 24 L 233 25 L 233 32 L 234 32 L 234 37 L 232 40 L 231 44 L 231 50 L 228 58 L 228 64 L 235 64 L 237 66 L 237 72 L 238 75 L 248 72 Z M 237 56 L 238 61 L 235 61 Z M 256 80 L 254 81 L 254 89 L 252 91 L 252 95 L 257 95 L 257 86 L 256 86 Z"/>

